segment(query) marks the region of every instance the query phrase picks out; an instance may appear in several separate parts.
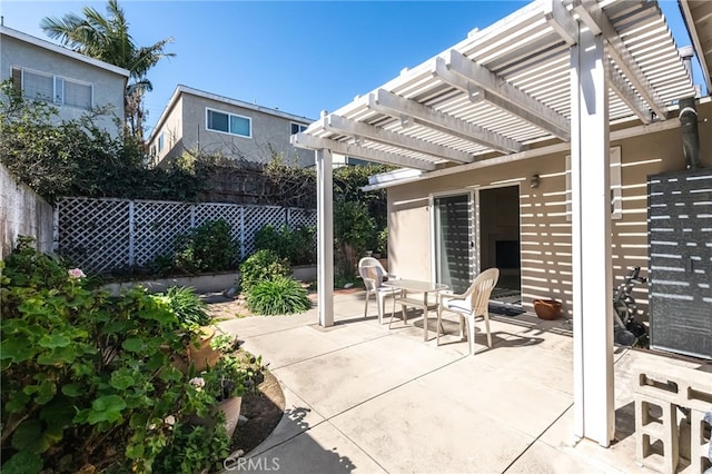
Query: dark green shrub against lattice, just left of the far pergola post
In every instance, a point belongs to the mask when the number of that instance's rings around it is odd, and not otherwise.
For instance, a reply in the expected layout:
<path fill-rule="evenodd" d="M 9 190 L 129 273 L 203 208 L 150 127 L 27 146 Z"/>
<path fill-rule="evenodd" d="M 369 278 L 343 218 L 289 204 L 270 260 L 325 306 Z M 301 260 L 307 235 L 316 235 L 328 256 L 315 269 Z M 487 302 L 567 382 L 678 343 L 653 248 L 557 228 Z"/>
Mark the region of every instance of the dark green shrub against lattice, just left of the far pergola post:
<path fill-rule="evenodd" d="M 291 265 L 313 265 L 316 263 L 316 227 L 298 226 L 279 229 L 267 224 L 255 234 L 257 250 L 271 250 Z"/>

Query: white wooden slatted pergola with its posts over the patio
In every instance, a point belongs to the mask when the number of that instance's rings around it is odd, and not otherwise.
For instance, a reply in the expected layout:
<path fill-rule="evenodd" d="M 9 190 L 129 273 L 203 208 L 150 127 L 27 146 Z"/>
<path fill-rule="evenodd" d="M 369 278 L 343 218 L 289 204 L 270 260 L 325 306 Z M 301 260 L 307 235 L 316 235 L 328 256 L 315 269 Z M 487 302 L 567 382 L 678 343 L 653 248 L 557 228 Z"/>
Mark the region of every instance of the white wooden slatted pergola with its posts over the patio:
<path fill-rule="evenodd" d="M 693 95 L 656 2 L 541 0 L 324 113 L 291 137 L 316 151 L 319 323 L 334 323 L 333 152 L 415 170 L 382 184 L 389 186 L 570 147 L 575 434 L 607 446 L 615 429 L 610 126 L 664 128 L 669 110 Z M 600 225 L 584 229 L 584 216 Z"/>

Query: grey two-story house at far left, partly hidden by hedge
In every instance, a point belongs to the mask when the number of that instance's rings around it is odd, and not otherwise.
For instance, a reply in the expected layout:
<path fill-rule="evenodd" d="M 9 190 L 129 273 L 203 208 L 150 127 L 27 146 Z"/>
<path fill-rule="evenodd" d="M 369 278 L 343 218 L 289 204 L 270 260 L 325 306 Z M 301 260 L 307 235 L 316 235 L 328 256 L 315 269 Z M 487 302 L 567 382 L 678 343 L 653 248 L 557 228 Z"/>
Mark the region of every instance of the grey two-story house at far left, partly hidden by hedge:
<path fill-rule="evenodd" d="M 57 107 L 58 120 L 111 106 L 95 124 L 115 137 L 122 131 L 126 69 L 0 26 L 0 80 L 10 78 L 24 97 Z"/>

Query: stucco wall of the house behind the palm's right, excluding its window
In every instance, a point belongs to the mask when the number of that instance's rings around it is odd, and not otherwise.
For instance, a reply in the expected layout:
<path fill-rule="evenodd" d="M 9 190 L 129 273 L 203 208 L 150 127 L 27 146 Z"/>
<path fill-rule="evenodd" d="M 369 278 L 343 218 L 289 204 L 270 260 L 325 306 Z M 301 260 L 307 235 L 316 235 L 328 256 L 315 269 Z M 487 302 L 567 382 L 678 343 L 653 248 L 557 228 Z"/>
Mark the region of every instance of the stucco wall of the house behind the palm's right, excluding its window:
<path fill-rule="evenodd" d="M 289 142 L 293 120 L 271 113 L 243 108 L 233 103 L 181 93 L 178 105 L 169 110 L 160 129 L 151 136 L 149 147 L 157 148 L 162 132 L 167 149 L 157 154 L 157 161 L 179 157 L 184 150 L 199 149 L 206 154 L 221 152 L 225 156 L 244 156 L 248 161 L 268 162 L 269 146 L 284 154 L 286 162 L 301 167 L 314 165 L 314 152 L 295 148 Z M 211 131 L 206 128 L 206 108 L 235 113 L 251 119 L 250 138 Z M 297 122 L 295 120 L 295 122 Z M 308 124 L 305 119 L 303 124 Z M 172 144 L 172 145 L 169 145 Z"/>

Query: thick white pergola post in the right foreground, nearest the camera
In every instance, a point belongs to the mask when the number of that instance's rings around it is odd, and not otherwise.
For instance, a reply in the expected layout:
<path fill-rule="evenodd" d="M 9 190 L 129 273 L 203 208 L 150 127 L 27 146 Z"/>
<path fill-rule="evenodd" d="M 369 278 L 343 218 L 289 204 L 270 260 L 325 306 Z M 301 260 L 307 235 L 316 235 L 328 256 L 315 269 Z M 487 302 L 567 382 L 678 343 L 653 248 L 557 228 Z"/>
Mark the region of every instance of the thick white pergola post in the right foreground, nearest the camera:
<path fill-rule="evenodd" d="M 578 34 L 571 53 L 574 434 L 607 447 L 615 434 L 607 59 L 601 36 Z"/>

